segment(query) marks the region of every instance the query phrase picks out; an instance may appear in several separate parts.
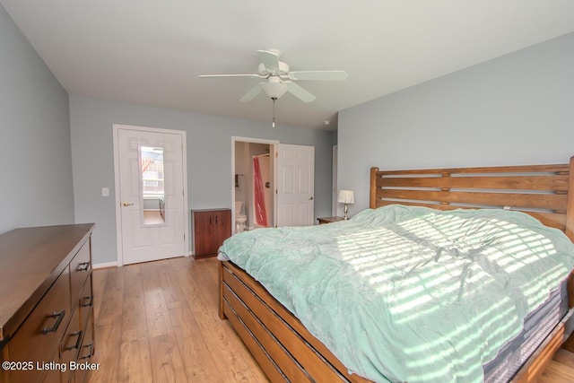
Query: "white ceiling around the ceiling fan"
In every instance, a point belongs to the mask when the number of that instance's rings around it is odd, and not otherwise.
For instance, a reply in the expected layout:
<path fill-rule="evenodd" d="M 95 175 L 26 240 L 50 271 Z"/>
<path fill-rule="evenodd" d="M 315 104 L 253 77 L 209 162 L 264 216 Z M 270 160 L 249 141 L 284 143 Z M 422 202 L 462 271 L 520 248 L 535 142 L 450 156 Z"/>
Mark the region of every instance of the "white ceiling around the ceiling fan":
<path fill-rule="evenodd" d="M 336 127 L 336 113 L 574 30 L 572 0 L 0 0 L 70 94 L 271 121 L 257 49 L 317 96 L 277 101 L 278 125 Z"/>

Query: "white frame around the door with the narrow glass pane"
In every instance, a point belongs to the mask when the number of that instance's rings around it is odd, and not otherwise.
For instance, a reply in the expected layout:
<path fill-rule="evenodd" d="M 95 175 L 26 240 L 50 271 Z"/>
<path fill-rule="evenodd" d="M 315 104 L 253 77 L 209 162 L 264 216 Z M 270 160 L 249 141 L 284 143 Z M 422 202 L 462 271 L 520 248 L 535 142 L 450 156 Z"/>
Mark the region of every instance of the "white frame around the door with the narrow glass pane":
<path fill-rule="evenodd" d="M 171 134 L 171 135 L 181 135 L 181 164 L 183 178 L 183 229 L 184 229 L 184 250 L 186 257 L 189 257 L 189 220 L 187 219 L 187 140 L 185 130 L 173 130 L 173 129 L 162 129 L 159 127 L 148 127 L 148 126 L 132 126 L 123 124 L 112 124 L 113 132 L 113 149 L 114 149 L 114 189 L 115 189 L 115 199 L 116 199 L 116 246 L 117 246 L 117 265 L 124 265 L 124 250 L 123 250 L 123 237 L 122 237 L 122 217 L 121 217 L 121 199 L 119 190 L 119 143 L 117 142 L 117 131 L 119 129 L 129 129 L 140 132 L 151 132 L 160 134 Z"/>

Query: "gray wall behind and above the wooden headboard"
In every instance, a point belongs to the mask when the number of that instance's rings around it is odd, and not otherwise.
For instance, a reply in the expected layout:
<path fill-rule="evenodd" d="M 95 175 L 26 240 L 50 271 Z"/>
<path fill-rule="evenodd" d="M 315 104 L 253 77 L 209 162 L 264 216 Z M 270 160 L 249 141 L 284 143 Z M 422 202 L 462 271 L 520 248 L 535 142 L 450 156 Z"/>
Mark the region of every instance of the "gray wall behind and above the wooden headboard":
<path fill-rule="evenodd" d="M 339 112 L 337 185 L 369 207 L 369 170 L 566 163 L 574 33 Z"/>

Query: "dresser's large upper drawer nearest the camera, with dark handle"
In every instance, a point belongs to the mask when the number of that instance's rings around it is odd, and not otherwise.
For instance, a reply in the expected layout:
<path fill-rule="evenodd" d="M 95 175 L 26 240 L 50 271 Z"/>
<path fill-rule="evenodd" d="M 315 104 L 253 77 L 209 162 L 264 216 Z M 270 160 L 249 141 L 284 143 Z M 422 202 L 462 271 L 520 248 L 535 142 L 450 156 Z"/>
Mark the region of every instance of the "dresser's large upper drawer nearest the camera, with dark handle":
<path fill-rule="evenodd" d="M 39 301 L 9 344 L 10 361 L 57 361 L 57 344 L 69 320 L 70 276 L 68 268 L 60 274 L 46 295 Z M 39 381 L 45 370 L 11 371 L 13 382 Z"/>

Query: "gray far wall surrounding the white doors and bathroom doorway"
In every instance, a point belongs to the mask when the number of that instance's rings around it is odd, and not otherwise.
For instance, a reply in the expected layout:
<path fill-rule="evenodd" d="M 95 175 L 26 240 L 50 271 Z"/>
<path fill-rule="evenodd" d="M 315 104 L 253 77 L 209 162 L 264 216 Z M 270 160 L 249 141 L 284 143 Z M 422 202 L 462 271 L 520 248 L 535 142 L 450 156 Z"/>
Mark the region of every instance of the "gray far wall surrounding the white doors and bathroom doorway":
<path fill-rule="evenodd" d="M 272 128 L 235 118 L 70 96 L 74 198 L 77 222 L 96 222 L 95 264 L 117 261 L 112 125 L 187 132 L 189 209 L 231 207 L 231 136 L 315 146 L 315 213 L 331 215 L 332 146 L 335 133 L 298 126 Z M 109 187 L 109 197 L 101 196 Z M 187 214 L 189 218 L 189 214 Z M 191 242 L 190 242 L 191 245 Z"/>

